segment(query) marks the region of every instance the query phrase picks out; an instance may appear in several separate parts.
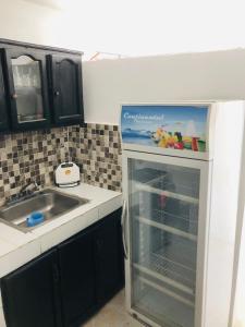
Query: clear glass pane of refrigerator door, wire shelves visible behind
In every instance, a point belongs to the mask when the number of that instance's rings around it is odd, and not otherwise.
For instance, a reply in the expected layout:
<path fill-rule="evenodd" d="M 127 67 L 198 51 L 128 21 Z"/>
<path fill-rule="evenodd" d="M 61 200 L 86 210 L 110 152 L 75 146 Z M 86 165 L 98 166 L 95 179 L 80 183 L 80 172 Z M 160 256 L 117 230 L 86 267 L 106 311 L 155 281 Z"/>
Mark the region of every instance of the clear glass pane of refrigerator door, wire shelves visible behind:
<path fill-rule="evenodd" d="M 147 157 L 127 158 L 131 307 L 194 327 L 200 169 Z"/>

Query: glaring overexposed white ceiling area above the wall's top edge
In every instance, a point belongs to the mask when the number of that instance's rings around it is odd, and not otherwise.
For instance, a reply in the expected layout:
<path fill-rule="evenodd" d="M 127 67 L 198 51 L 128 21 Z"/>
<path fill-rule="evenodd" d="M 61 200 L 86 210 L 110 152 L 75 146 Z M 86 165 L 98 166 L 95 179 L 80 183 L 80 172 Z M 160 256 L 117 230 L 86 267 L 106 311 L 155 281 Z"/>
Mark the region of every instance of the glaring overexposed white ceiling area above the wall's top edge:
<path fill-rule="evenodd" d="M 40 14 L 52 29 L 45 39 L 59 35 L 60 44 L 84 51 L 152 56 L 245 47 L 244 0 L 24 1 L 50 9 Z"/>

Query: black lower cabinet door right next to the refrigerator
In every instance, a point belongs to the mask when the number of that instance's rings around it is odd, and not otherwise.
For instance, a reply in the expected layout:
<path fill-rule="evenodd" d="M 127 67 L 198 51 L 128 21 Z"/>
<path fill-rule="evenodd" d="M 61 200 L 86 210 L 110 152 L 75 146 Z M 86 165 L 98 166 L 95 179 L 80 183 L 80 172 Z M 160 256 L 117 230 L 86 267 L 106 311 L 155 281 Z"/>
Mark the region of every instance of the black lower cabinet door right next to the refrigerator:
<path fill-rule="evenodd" d="M 121 209 L 105 218 L 95 233 L 96 295 L 106 302 L 123 284 Z"/>

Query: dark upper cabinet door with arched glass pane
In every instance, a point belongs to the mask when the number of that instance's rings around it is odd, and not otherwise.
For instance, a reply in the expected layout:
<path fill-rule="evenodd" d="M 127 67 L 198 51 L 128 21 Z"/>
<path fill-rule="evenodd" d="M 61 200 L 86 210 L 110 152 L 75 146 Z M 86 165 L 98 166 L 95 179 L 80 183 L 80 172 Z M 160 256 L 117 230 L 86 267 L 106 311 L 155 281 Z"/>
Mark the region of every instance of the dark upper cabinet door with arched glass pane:
<path fill-rule="evenodd" d="M 5 49 L 13 130 L 49 126 L 46 56 L 41 50 Z"/>

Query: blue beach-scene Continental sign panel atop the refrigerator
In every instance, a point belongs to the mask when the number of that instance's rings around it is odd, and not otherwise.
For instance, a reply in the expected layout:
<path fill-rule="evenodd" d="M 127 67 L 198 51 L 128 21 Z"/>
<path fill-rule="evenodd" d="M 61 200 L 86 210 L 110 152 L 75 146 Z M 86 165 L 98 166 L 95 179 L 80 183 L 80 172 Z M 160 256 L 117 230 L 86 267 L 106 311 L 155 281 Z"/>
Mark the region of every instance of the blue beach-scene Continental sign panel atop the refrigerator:
<path fill-rule="evenodd" d="M 208 107 L 124 105 L 123 143 L 206 152 Z"/>

